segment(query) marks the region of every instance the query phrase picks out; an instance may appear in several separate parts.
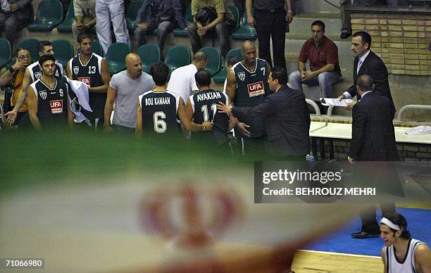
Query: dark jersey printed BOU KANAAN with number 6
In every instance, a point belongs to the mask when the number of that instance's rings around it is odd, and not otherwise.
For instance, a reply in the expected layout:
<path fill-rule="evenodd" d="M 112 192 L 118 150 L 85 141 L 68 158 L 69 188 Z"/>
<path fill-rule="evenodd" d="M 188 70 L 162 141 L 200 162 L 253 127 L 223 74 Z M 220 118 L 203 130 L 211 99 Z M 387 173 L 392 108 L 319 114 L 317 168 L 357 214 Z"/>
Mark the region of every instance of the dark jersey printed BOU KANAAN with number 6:
<path fill-rule="evenodd" d="M 139 96 L 144 137 L 181 139 L 177 110 L 180 96 L 171 91 L 147 91 Z"/>

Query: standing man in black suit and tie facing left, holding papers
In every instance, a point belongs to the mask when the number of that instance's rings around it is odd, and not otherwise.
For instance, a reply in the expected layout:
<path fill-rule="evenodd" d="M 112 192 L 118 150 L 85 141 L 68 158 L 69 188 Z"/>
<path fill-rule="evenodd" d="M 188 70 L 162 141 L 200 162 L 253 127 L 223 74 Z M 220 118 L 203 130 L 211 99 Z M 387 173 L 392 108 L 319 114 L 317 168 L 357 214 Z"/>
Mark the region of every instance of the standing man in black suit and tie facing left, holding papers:
<path fill-rule="evenodd" d="M 389 107 L 395 114 L 394 101 L 392 100 L 391 90 L 389 89 L 389 82 L 387 79 L 387 68 L 385 63 L 379 56 L 375 55 L 373 51 L 370 51 L 371 36 L 368 32 L 358 31 L 355 32 L 351 39 L 351 50 L 354 53 L 354 84 L 351 85 L 349 90 L 345 91 L 339 100 L 351 99 L 356 96 L 356 81 L 361 75 L 370 75 L 373 78 L 374 89 L 378 95 L 386 96 L 389 99 Z M 354 103 L 350 103 L 348 108 L 351 110 Z"/>

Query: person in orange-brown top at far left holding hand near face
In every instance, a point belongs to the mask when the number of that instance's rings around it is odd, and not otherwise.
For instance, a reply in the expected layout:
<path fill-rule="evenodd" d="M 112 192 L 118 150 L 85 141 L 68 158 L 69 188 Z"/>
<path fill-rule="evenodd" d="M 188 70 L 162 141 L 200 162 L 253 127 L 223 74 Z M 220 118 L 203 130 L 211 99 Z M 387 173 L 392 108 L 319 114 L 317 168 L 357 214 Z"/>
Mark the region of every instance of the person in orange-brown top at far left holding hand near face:
<path fill-rule="evenodd" d="M 15 63 L 11 68 L 6 69 L 0 77 L 0 86 L 8 86 L 13 90 L 11 98 L 11 106 L 15 106 L 18 101 L 18 96 L 23 90 L 23 79 L 25 68 L 32 63 L 32 56 L 28 49 L 19 48 L 16 53 Z M 20 128 L 25 128 L 30 125 L 28 118 L 27 99 L 25 99 L 23 106 L 19 108 L 15 122 L 13 125 L 19 125 Z"/>

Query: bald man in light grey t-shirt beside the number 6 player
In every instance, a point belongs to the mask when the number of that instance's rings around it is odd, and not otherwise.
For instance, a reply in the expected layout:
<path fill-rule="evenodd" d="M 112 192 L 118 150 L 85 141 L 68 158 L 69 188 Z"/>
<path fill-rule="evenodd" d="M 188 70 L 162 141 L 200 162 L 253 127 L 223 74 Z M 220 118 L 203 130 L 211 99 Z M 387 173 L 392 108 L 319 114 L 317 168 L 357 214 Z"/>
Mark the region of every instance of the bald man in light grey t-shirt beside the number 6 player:
<path fill-rule="evenodd" d="M 104 128 L 107 132 L 135 134 L 137 101 L 140 95 L 154 88 L 153 78 L 142 71 L 139 55 L 125 57 L 126 70 L 113 75 L 109 82 L 104 111 Z M 111 125 L 111 113 L 115 111 Z"/>

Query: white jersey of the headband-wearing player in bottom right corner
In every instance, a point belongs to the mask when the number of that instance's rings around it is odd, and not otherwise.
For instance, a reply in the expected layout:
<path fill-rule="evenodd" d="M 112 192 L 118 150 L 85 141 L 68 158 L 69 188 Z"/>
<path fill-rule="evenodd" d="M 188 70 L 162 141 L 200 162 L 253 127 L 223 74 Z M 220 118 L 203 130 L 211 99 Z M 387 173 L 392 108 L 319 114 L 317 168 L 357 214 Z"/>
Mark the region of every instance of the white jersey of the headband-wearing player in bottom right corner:
<path fill-rule="evenodd" d="M 407 253 L 404 261 L 396 259 L 394 246 L 386 248 L 386 270 L 387 273 L 416 273 L 415 250 L 420 244 L 425 244 L 416 239 L 408 242 Z"/>

